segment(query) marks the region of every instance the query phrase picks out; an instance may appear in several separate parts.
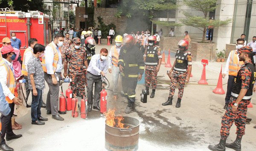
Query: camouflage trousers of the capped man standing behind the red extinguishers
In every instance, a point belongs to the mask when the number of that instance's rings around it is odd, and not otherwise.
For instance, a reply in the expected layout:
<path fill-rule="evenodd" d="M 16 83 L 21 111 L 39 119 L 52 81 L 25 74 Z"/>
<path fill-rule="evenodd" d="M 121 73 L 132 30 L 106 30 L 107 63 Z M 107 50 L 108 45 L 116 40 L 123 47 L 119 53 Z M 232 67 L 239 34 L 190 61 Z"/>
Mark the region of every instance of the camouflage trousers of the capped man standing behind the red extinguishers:
<path fill-rule="evenodd" d="M 70 86 L 73 94 L 76 95 L 76 92 L 79 91 L 81 96 L 85 96 L 85 85 L 87 85 L 85 74 L 73 74 L 69 72 L 68 75 L 72 79 Z"/>

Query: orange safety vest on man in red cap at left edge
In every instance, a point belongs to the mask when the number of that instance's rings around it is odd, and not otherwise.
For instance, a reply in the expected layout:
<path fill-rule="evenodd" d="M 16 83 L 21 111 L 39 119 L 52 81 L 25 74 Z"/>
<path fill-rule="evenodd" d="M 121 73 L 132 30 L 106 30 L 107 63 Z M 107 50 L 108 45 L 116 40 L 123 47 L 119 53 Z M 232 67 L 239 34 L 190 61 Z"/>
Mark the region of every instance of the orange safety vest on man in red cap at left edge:
<path fill-rule="evenodd" d="M 7 85 L 7 87 L 9 88 L 11 93 L 14 94 L 15 97 L 18 97 L 18 92 L 17 92 L 17 88 L 16 88 L 16 78 L 15 78 L 14 72 L 12 71 L 12 69 L 9 67 L 9 65 L 4 60 L 0 61 L 0 66 L 4 66 L 6 68 L 6 71 L 7 71 L 6 85 Z M 6 101 L 8 103 L 13 103 L 13 101 L 9 97 L 6 97 Z"/>

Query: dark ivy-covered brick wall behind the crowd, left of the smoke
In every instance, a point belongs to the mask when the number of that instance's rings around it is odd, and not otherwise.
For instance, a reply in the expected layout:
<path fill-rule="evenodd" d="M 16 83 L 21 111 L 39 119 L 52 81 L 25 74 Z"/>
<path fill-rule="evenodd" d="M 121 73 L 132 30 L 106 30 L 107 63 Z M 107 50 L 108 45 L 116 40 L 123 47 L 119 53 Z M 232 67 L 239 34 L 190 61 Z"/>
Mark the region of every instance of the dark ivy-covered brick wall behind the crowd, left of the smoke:
<path fill-rule="evenodd" d="M 94 22 L 96 23 L 96 27 L 98 27 L 98 19 L 97 17 L 100 16 L 103 18 L 103 22 L 108 24 L 115 24 L 116 25 L 116 33 L 124 34 L 125 28 L 127 24 L 127 18 L 121 16 L 120 18 L 115 17 L 117 9 L 115 8 L 94 8 Z"/>

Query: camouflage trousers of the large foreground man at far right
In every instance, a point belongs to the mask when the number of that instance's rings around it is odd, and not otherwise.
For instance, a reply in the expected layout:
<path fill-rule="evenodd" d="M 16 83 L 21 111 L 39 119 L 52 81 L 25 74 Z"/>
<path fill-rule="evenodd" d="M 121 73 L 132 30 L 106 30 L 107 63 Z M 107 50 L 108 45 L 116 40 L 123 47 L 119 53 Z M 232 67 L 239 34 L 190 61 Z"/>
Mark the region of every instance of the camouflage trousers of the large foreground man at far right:
<path fill-rule="evenodd" d="M 230 103 L 228 104 L 227 110 L 221 120 L 221 138 L 226 140 L 230 134 L 230 128 L 235 122 L 236 134 L 241 138 L 245 134 L 245 122 L 247 105 L 250 104 L 250 100 L 242 100 L 237 108 L 237 112 L 232 112 L 232 106 L 236 99 L 230 97 Z"/>

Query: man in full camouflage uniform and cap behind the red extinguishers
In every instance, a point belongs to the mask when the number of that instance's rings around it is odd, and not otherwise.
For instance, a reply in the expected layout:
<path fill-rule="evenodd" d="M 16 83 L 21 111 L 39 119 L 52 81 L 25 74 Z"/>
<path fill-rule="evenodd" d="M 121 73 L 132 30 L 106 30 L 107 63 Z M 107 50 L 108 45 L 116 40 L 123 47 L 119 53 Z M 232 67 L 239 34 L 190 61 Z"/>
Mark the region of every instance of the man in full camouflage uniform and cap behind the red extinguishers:
<path fill-rule="evenodd" d="M 70 83 L 73 94 L 76 94 L 75 88 L 80 92 L 81 97 L 85 96 L 85 85 L 87 85 L 85 70 L 88 68 L 86 51 L 81 47 L 79 38 L 73 39 L 73 46 L 67 50 L 64 63 L 64 77 L 67 77 L 67 64 L 69 64 L 68 75 L 72 79 Z"/>

